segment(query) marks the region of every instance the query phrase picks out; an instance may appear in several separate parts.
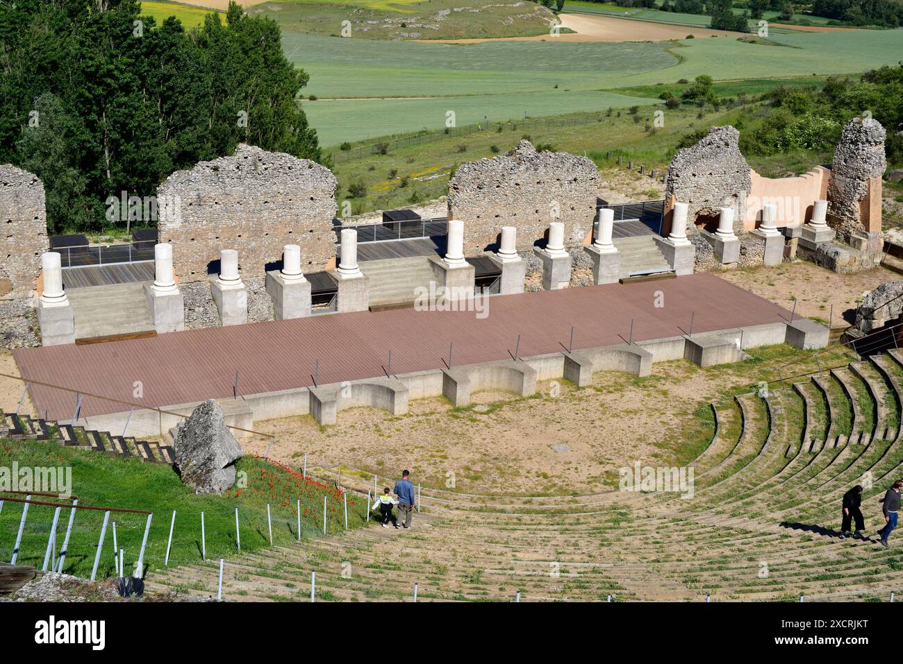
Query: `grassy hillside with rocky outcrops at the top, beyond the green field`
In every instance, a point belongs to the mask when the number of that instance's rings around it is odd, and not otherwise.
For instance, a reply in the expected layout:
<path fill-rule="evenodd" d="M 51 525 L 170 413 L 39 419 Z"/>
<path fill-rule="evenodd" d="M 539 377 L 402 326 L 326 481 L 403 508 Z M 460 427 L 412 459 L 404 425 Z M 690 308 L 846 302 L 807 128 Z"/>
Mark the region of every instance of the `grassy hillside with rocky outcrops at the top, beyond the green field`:
<path fill-rule="evenodd" d="M 253 5 L 247 13 L 273 18 L 283 32 L 380 40 L 532 37 L 556 23 L 532 0 L 293 0 Z"/>

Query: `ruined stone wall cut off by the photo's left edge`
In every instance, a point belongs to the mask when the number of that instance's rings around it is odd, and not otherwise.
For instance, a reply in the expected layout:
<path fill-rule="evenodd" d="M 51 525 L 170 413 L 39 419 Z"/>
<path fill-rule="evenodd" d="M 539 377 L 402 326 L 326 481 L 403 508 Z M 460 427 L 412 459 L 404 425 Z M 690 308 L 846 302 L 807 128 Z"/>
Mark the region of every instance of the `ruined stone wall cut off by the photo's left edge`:
<path fill-rule="evenodd" d="M 44 185 L 37 175 L 0 165 L 0 300 L 32 296 L 48 250 Z"/>

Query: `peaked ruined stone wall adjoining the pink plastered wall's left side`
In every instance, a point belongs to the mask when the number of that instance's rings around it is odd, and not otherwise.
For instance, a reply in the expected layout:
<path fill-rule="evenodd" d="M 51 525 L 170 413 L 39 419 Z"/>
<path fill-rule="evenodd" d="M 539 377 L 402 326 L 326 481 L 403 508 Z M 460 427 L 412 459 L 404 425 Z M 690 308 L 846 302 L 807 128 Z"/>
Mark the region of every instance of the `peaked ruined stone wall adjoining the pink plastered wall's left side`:
<path fill-rule="evenodd" d="M 678 151 L 671 160 L 666 212 L 675 200 L 687 204 L 687 235 L 695 233 L 694 221 L 701 217 L 716 220 L 721 208 L 734 209 L 734 233 L 743 232 L 752 180 L 739 141 L 740 132 L 732 126 L 712 127 L 699 143 Z"/>

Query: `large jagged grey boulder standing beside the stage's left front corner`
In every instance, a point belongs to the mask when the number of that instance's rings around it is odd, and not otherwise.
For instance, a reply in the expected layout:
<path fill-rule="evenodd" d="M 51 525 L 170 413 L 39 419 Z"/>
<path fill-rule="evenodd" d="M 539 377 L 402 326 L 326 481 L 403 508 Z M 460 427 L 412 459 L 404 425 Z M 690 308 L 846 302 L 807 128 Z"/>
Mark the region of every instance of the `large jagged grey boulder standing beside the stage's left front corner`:
<path fill-rule="evenodd" d="M 191 412 L 175 438 L 175 466 L 195 493 L 223 493 L 235 484 L 235 462 L 244 456 L 216 401 Z"/>

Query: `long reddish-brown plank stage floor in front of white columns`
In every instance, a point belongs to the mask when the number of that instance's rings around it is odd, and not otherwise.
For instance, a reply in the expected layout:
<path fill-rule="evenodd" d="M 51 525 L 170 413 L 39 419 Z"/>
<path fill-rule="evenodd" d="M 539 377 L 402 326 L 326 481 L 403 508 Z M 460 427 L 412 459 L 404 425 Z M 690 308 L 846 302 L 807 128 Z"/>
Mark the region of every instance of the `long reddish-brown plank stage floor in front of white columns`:
<path fill-rule="evenodd" d="M 656 308 L 656 293 L 665 306 Z M 147 407 L 312 384 L 407 373 L 443 366 L 454 344 L 453 364 L 509 357 L 521 335 L 520 355 L 565 349 L 571 326 L 575 349 L 623 343 L 634 321 L 634 339 L 706 332 L 787 320 L 790 312 L 712 274 L 668 281 L 610 284 L 489 299 L 486 316 L 473 311 L 388 311 L 316 316 L 236 327 L 172 332 L 159 337 L 90 346 L 48 346 L 14 351 L 27 380 L 62 385 Z M 135 400 L 135 382 L 144 396 Z M 32 385 L 38 411 L 71 417 L 75 395 Z M 86 398 L 82 416 L 128 410 Z"/>

